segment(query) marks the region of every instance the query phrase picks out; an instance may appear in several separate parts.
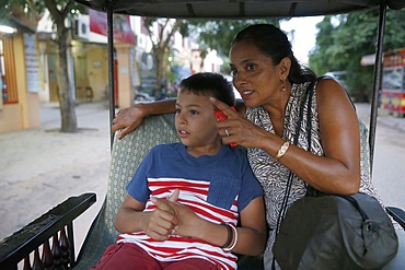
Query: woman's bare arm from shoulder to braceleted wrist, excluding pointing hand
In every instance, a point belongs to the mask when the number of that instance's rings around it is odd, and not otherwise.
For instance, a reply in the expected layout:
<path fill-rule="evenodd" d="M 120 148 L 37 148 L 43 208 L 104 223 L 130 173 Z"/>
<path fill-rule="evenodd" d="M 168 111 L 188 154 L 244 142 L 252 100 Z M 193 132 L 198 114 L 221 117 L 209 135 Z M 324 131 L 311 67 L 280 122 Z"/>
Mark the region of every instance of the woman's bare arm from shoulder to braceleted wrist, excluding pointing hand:
<path fill-rule="evenodd" d="M 292 146 L 279 162 L 321 191 L 355 193 L 361 178 L 356 110 L 346 91 L 335 80 L 319 82 L 316 103 L 324 156 Z"/>

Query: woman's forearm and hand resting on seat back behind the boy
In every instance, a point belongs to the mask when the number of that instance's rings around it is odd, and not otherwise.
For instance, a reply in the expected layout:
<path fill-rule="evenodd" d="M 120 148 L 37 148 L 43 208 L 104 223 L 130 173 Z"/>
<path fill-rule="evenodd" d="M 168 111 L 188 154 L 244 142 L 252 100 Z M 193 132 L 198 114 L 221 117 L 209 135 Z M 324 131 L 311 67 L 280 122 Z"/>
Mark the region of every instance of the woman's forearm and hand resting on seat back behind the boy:
<path fill-rule="evenodd" d="M 139 103 L 134 107 L 120 109 L 113 120 L 112 131 L 116 132 L 118 139 L 135 130 L 142 119 L 149 115 L 170 114 L 175 111 L 175 98 L 153 103 Z"/>

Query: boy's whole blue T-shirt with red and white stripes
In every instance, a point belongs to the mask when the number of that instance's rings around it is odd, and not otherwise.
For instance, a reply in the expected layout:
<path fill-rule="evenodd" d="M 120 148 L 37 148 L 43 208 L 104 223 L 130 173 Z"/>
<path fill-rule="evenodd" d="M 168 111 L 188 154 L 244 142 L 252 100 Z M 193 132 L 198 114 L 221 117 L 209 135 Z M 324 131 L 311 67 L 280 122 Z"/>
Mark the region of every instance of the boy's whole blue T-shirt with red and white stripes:
<path fill-rule="evenodd" d="M 146 156 L 128 184 L 128 193 L 146 202 L 144 211 L 155 206 L 150 196 L 167 198 L 180 189 L 178 202 L 212 223 L 236 225 L 239 211 L 262 196 L 262 187 L 241 149 L 223 145 L 212 156 L 194 157 L 182 143 L 159 145 Z M 236 269 L 236 256 L 197 238 L 170 236 L 154 240 L 143 232 L 123 234 L 118 242 L 134 243 L 160 261 L 201 258 L 221 269 Z"/>

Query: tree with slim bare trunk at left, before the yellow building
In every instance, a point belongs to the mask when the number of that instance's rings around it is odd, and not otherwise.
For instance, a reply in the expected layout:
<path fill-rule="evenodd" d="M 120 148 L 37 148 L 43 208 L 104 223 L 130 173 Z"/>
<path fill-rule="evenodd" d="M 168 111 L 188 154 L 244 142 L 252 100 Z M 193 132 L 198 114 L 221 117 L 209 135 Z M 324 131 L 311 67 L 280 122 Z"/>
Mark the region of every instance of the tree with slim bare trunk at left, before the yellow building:
<path fill-rule="evenodd" d="M 61 132 L 77 132 L 78 121 L 76 116 L 73 93 L 68 77 L 68 49 L 70 45 L 69 27 L 65 24 L 69 16 L 76 12 L 83 11 L 83 7 L 72 0 L 9 0 L 1 3 L 1 14 L 10 16 L 12 10 L 19 8 L 26 13 L 26 16 L 43 15 L 48 10 L 56 26 L 57 54 L 57 81 L 61 115 Z"/>

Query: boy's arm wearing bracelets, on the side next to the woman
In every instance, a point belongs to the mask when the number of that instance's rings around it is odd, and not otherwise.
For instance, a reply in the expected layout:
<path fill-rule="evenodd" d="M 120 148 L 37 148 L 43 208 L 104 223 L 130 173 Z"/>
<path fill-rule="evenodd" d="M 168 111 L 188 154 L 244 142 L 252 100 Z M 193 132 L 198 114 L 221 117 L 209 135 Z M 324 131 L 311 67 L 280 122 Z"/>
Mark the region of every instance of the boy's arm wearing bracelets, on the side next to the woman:
<path fill-rule="evenodd" d="M 224 225 L 215 224 L 199 218 L 189 208 L 170 200 L 157 199 L 158 208 L 169 207 L 176 209 L 178 226 L 175 234 L 185 237 L 195 237 L 216 246 L 222 246 L 228 239 L 228 230 Z M 232 251 L 257 256 L 261 255 L 266 245 L 266 221 L 262 197 L 257 197 L 245 207 L 241 213 L 241 227 L 236 227 L 238 242 Z M 232 232 L 233 233 L 233 232 Z M 231 242 L 233 244 L 234 238 Z"/>

